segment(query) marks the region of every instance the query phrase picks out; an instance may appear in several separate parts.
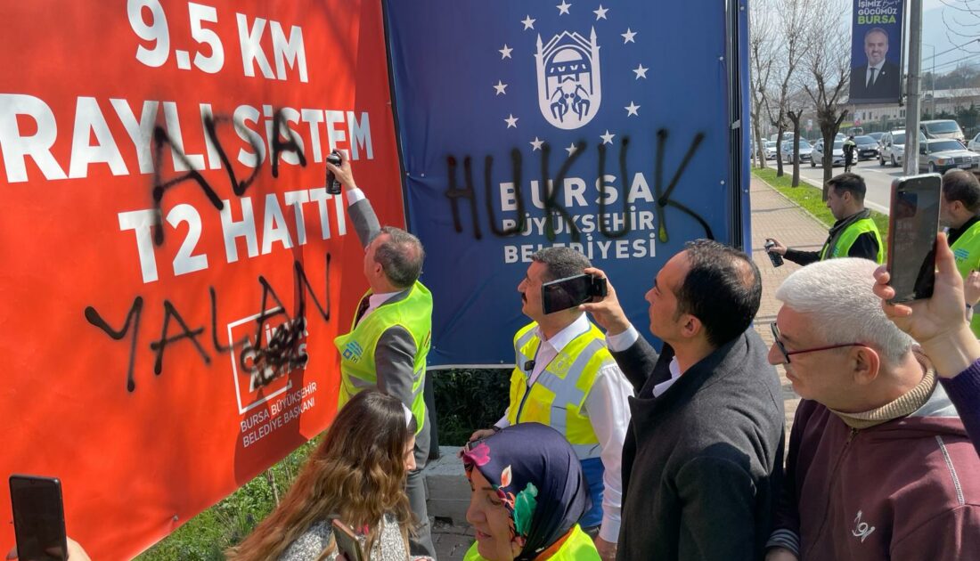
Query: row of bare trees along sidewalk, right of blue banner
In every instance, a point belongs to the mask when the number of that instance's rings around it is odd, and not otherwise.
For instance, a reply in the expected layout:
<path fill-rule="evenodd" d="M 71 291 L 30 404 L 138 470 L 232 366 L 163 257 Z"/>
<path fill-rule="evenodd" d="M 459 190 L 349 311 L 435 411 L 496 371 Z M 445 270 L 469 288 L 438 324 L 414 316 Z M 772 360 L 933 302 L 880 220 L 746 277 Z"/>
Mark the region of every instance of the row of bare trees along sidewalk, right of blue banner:
<path fill-rule="evenodd" d="M 847 115 L 851 77 L 851 0 L 753 0 L 749 14 L 752 135 L 765 166 L 761 124 L 778 132 L 776 174 L 783 175 L 783 134 L 793 132 L 793 186 L 800 184 L 800 120 L 814 115 L 824 151 Z M 823 166 L 824 182 L 832 167 Z"/>

